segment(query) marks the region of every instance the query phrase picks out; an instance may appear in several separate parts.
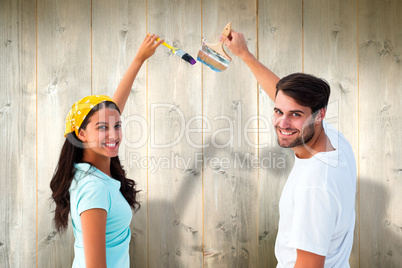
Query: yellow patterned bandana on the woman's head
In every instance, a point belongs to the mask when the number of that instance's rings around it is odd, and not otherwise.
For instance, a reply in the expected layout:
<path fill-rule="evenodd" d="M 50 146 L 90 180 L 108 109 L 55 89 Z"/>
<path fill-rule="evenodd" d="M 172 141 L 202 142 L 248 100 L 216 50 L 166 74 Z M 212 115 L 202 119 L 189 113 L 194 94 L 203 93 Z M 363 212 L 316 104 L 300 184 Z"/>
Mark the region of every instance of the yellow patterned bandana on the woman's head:
<path fill-rule="evenodd" d="M 70 132 L 75 132 L 75 135 L 78 137 L 78 130 L 87 114 L 93 107 L 104 101 L 111 101 L 116 104 L 112 98 L 105 95 L 87 96 L 74 103 L 66 116 L 66 132 L 64 133 L 64 137 Z"/>

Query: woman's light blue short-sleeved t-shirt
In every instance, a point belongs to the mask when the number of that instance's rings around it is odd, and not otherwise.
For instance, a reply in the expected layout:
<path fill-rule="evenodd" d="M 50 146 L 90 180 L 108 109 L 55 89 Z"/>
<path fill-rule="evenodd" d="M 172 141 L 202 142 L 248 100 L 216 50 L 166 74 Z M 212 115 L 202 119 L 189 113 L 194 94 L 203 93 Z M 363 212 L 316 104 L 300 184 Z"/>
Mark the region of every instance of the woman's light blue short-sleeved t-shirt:
<path fill-rule="evenodd" d="M 87 163 L 74 164 L 74 167 L 76 172 L 70 186 L 70 213 L 75 236 L 73 268 L 85 267 L 80 215 L 93 208 L 107 212 L 107 267 L 129 267 L 132 211 L 120 192 L 120 182 Z"/>

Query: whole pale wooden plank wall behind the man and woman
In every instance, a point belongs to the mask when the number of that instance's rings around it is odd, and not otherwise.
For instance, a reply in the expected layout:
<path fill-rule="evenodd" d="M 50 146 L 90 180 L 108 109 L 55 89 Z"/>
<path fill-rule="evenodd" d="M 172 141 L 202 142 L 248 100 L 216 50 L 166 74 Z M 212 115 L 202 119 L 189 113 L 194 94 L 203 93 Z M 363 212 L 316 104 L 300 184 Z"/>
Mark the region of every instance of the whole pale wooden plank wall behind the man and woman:
<path fill-rule="evenodd" d="M 54 232 L 49 182 L 72 103 L 112 95 L 147 32 L 196 57 L 229 21 L 279 76 L 331 84 L 327 120 L 358 163 L 351 267 L 401 267 L 400 14 L 399 0 L 0 0 L 0 267 L 71 267 L 74 237 Z M 132 267 L 275 267 L 294 159 L 272 107 L 235 56 L 215 73 L 157 50 L 122 116 L 120 158 L 142 205 Z"/>

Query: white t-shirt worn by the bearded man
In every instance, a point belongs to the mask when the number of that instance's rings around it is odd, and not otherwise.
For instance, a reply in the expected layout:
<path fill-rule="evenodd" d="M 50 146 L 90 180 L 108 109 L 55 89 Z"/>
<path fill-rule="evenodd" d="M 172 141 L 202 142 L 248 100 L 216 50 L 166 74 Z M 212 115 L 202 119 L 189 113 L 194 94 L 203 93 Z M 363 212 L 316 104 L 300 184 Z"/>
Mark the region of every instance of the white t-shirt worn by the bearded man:
<path fill-rule="evenodd" d="M 296 249 L 326 256 L 324 267 L 350 267 L 355 226 L 356 163 L 342 133 L 323 122 L 336 149 L 296 157 L 279 202 L 277 267 L 294 267 Z"/>

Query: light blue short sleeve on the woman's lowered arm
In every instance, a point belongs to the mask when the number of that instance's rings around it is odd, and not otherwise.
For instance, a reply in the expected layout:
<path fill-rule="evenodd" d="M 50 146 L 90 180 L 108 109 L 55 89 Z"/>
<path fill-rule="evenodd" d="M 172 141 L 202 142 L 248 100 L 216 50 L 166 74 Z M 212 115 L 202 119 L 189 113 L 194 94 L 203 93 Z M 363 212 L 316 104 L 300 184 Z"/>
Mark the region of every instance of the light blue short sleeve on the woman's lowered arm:
<path fill-rule="evenodd" d="M 109 199 L 109 190 L 101 179 L 86 181 L 77 193 L 78 215 L 93 208 L 104 209 L 108 212 L 110 207 Z"/>

